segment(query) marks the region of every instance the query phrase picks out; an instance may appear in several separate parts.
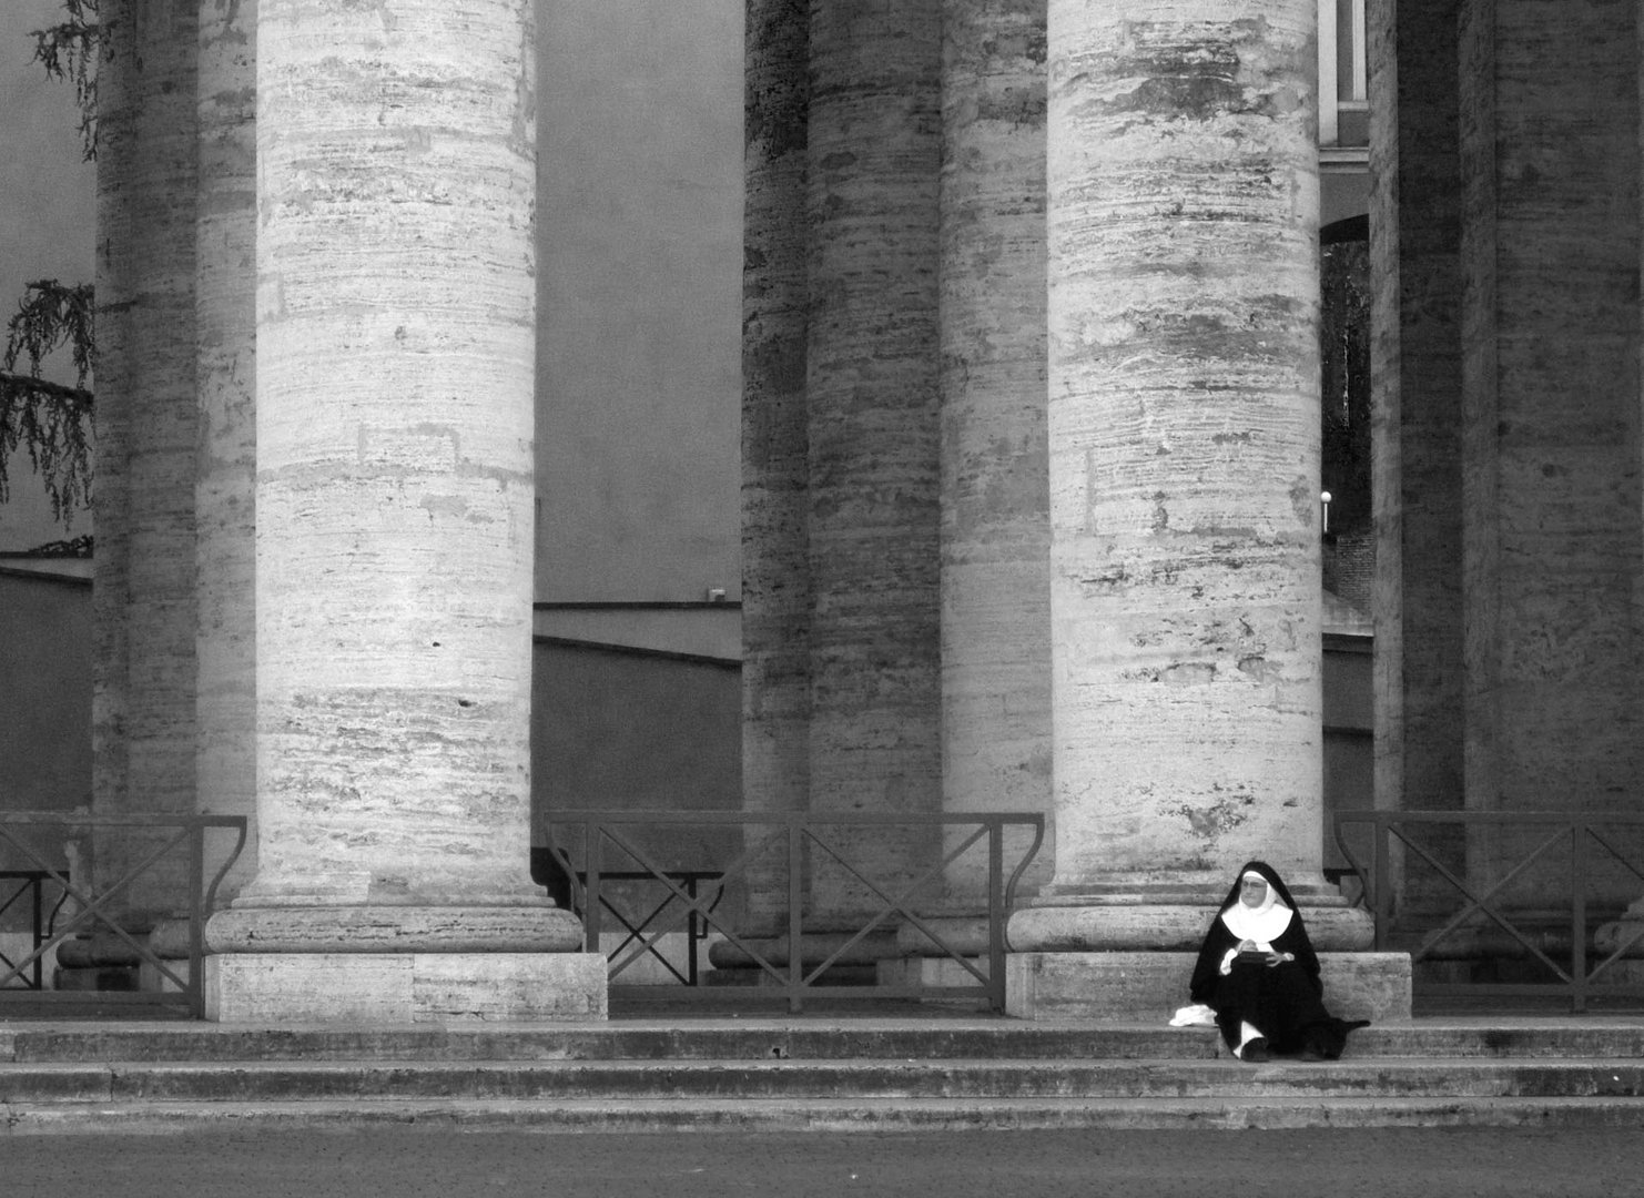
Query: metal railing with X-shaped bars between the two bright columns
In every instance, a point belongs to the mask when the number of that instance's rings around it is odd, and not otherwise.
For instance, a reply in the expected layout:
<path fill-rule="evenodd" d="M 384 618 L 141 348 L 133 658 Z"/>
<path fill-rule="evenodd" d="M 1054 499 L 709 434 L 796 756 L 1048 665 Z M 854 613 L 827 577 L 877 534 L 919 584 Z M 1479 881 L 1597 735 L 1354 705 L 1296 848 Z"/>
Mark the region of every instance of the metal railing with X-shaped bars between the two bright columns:
<path fill-rule="evenodd" d="M 689 868 L 681 869 L 674 863 L 663 863 L 658 853 L 638 843 L 633 833 L 640 828 L 672 828 L 689 827 L 695 830 L 741 830 L 741 851 L 722 868 Z M 1032 833 L 1032 843 L 1023 851 L 1009 878 L 1004 876 L 1004 830 L 1008 827 L 1024 827 Z M 866 828 L 883 830 L 888 835 L 893 828 L 927 828 L 940 832 L 945 828 L 968 828 L 957 846 L 950 848 L 911 882 L 888 892 L 889 884 L 880 884 L 866 876 L 866 866 L 853 864 L 847 850 L 838 845 L 837 833 L 829 830 Z M 559 835 L 556 835 L 556 832 Z M 572 856 L 566 841 L 580 832 L 580 861 Z M 789 1011 L 801 1011 L 807 998 L 819 991 L 829 996 L 848 998 L 911 998 L 911 999 L 965 999 L 973 998 L 986 1002 L 993 1011 L 1004 1009 L 1004 920 L 1016 899 L 1016 887 L 1021 882 L 1034 855 L 1044 843 L 1044 817 L 1019 812 L 975 812 L 965 815 L 909 813 L 820 813 L 820 812 L 786 812 L 786 813 L 745 813 L 745 812 L 610 812 L 610 810 L 567 810 L 554 812 L 549 817 L 549 851 L 557 861 L 562 887 L 569 887 L 570 905 L 584 920 L 587 945 L 600 945 L 600 932 L 607 912 L 616 914 L 616 901 L 607 889 L 607 882 L 615 876 L 643 876 L 653 887 L 663 889 L 661 904 L 653 905 L 648 914 L 618 914 L 618 924 L 626 930 L 623 943 L 608 955 L 612 996 L 654 994 L 654 986 L 623 986 L 615 979 L 625 970 L 644 956 L 663 958 L 659 943 L 664 935 L 674 932 L 682 924 L 689 927 L 689 951 L 697 951 L 697 928 L 702 935 L 717 932 L 723 942 L 746 958 L 746 965 L 755 970 L 755 978 L 761 983 L 761 996 L 783 998 Z M 954 943 L 934 924 L 931 912 L 921 914 L 916 899 L 932 884 L 945 879 L 947 869 L 965 853 L 980 843 L 986 843 L 986 951 L 967 951 Z M 783 920 L 786 951 L 761 948 L 756 942 L 768 942 L 773 937 L 748 935 L 733 925 L 733 915 L 725 909 L 737 904 L 722 904 L 730 887 L 746 884 L 746 871 L 769 850 L 781 850 L 781 869 L 771 871 L 760 886 L 750 886 L 750 892 L 758 889 L 760 896 L 778 907 L 786 904 Z M 608 871 L 603 864 L 607 850 L 616 850 L 626 858 L 620 871 Z M 853 879 L 861 894 L 873 896 L 880 904 L 870 915 L 853 919 L 853 928 L 842 932 L 838 914 L 827 917 L 810 915 L 809 933 L 827 935 L 830 948 L 815 950 L 812 960 L 806 960 L 807 935 L 807 856 L 815 861 L 832 863 L 842 876 Z M 633 866 L 638 866 L 636 869 Z M 679 876 L 697 874 L 700 886 L 687 889 Z M 549 889 L 556 889 L 549 886 Z M 654 894 L 654 891 L 653 891 Z M 891 930 L 896 925 L 889 920 L 901 920 L 917 928 L 931 943 L 927 956 L 957 963 L 957 971 L 968 981 L 958 984 L 922 984 L 922 983 L 873 983 L 837 986 L 830 981 L 829 971 L 847 961 L 848 955 L 868 937 L 880 930 Z M 825 928 L 817 924 L 824 922 Z M 840 940 L 842 937 L 842 940 Z M 838 943 L 835 943 L 838 940 Z M 626 950 L 626 955 L 623 955 Z M 781 960 L 786 956 L 786 960 Z M 669 970 L 679 978 L 677 968 Z M 690 979 L 695 973 L 689 975 Z M 684 999 L 723 999 L 725 991 L 713 986 L 674 986 L 669 998 Z"/>

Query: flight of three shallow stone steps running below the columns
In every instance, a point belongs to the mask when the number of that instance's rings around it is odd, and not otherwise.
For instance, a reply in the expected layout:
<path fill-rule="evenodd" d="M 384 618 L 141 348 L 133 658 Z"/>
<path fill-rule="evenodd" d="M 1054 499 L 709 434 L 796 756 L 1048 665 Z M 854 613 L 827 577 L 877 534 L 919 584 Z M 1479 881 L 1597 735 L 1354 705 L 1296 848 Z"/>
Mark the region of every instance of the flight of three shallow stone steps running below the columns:
<path fill-rule="evenodd" d="M 1245 1065 L 1208 1029 L 1008 1019 L 0 1027 L 5 1134 L 1639 1126 L 1644 1019 L 1424 1019 Z"/>

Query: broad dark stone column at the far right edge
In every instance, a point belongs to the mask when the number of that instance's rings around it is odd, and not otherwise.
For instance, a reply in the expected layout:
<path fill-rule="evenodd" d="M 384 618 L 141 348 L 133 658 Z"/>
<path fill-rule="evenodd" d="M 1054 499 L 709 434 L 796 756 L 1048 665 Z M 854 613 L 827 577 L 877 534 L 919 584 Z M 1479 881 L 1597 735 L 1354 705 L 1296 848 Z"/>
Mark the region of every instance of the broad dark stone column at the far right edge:
<path fill-rule="evenodd" d="M 1466 805 L 1634 810 L 1641 766 L 1634 5 L 1462 3 Z M 1539 836 L 1475 835 L 1473 879 Z M 1563 905 L 1562 871 L 1508 894 Z M 1624 902 L 1636 879 L 1593 879 Z"/>

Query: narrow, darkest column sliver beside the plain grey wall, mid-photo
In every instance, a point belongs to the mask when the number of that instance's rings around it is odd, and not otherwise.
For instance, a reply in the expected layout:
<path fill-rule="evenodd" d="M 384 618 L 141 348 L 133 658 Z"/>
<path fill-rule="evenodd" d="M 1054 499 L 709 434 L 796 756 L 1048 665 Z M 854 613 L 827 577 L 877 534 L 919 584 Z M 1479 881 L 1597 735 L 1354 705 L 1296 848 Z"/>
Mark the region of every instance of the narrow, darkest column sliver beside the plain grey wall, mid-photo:
<path fill-rule="evenodd" d="M 741 340 L 741 792 L 809 804 L 810 582 L 806 437 L 809 2 L 748 0 Z M 748 863 L 748 930 L 784 928 L 786 838 Z"/>

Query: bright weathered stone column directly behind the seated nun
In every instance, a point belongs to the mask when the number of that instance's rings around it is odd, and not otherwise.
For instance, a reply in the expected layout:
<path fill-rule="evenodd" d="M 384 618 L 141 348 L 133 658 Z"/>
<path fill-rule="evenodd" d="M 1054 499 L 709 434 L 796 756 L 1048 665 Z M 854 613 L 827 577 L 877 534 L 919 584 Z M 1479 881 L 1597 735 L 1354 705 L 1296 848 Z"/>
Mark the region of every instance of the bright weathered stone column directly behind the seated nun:
<path fill-rule="evenodd" d="M 1263 858 L 1361 947 L 1320 876 L 1315 3 L 1051 0 L 1049 31 L 1057 853 L 1011 945 L 1195 948 Z"/>

